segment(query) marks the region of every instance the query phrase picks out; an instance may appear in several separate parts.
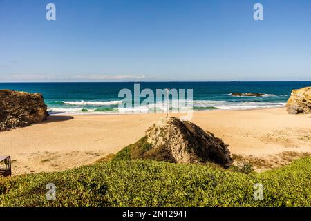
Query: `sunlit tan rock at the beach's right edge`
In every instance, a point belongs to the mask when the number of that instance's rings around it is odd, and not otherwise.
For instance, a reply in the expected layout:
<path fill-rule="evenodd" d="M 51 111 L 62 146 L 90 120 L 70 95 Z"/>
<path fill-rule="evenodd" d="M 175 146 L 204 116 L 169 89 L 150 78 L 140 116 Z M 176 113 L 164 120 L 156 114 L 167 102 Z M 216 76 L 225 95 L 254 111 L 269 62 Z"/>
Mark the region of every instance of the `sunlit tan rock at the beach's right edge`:
<path fill-rule="evenodd" d="M 286 108 L 290 114 L 311 113 L 311 86 L 292 90 Z"/>

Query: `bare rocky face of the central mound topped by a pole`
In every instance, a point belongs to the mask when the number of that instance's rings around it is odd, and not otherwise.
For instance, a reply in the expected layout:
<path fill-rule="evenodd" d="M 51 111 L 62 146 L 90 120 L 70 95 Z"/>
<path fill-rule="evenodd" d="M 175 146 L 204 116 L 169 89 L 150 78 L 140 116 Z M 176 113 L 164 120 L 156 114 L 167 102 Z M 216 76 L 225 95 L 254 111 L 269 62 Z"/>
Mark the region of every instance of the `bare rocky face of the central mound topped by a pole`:
<path fill-rule="evenodd" d="M 144 157 L 152 160 L 162 157 L 169 162 L 215 162 L 222 166 L 230 166 L 233 162 L 227 148 L 229 145 L 224 144 L 223 140 L 203 131 L 196 124 L 182 122 L 176 117 L 154 124 L 146 135 L 152 148 Z"/>

